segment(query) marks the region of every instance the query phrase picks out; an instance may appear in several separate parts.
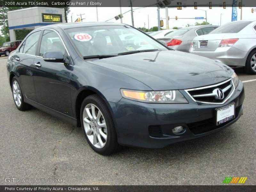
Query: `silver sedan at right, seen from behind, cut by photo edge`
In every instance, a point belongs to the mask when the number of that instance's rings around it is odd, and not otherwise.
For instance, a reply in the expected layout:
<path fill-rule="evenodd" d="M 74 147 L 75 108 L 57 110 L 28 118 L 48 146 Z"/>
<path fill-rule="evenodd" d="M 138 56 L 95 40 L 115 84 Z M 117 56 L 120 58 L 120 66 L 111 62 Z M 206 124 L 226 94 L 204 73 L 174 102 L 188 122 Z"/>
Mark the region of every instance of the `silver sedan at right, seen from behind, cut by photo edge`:
<path fill-rule="evenodd" d="M 256 74 L 256 21 L 234 21 L 195 37 L 189 52 Z"/>

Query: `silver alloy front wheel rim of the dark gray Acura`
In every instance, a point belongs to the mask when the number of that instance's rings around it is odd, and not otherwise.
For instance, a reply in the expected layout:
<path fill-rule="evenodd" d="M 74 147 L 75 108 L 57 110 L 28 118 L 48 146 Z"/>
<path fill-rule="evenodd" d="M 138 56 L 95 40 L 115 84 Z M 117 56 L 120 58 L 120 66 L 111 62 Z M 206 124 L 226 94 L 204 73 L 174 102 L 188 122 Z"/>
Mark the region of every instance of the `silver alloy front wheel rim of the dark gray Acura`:
<path fill-rule="evenodd" d="M 83 124 L 87 138 L 96 148 L 103 148 L 107 142 L 107 125 L 100 109 L 87 104 L 83 111 Z"/>

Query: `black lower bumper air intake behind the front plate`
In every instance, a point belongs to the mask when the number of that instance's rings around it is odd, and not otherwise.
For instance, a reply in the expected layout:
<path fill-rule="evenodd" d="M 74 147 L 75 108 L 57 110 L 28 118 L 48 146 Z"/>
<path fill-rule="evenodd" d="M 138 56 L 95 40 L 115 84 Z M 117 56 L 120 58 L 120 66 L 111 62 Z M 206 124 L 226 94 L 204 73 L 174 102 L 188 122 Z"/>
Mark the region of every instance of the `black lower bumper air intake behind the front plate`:
<path fill-rule="evenodd" d="M 236 108 L 236 114 L 235 114 L 235 118 L 236 119 L 239 115 L 239 112 L 241 110 L 242 105 L 240 105 L 239 107 Z M 233 120 L 232 120 L 233 121 Z M 226 124 L 232 122 L 232 121 L 228 121 L 226 123 L 220 124 L 220 125 L 216 125 L 216 119 L 215 117 L 210 118 L 210 119 L 205 119 L 203 121 L 198 121 L 195 123 L 189 123 L 188 128 L 189 130 L 194 134 L 194 135 L 198 135 L 198 134 L 202 134 L 205 132 L 209 132 L 212 131 L 214 129 L 218 129 L 220 127 L 225 126 Z"/>

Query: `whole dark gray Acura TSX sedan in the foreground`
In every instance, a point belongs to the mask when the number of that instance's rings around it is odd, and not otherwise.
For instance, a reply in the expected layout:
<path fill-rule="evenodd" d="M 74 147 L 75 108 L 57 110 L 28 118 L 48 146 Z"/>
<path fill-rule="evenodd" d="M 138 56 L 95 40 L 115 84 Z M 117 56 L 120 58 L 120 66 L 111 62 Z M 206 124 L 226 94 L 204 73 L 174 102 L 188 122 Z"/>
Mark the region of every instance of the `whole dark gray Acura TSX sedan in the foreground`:
<path fill-rule="evenodd" d="M 37 28 L 10 53 L 7 70 L 19 110 L 34 106 L 82 126 L 103 155 L 198 138 L 243 113 L 244 87 L 233 69 L 125 24 Z"/>

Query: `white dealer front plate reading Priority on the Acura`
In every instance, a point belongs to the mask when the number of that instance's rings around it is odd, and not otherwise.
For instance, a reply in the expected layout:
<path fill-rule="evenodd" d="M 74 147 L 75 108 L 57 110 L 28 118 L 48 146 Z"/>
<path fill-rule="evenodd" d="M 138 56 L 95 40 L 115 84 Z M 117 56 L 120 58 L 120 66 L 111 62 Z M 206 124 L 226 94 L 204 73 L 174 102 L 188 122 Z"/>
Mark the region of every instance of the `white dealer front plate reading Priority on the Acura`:
<path fill-rule="evenodd" d="M 236 104 L 230 103 L 220 108 L 215 109 L 216 113 L 216 125 L 227 123 L 235 119 Z"/>

